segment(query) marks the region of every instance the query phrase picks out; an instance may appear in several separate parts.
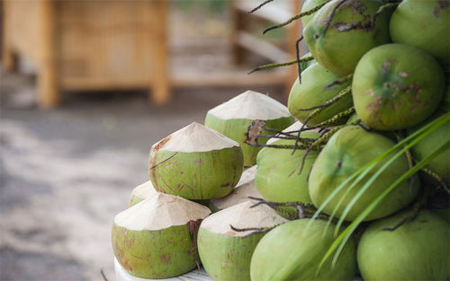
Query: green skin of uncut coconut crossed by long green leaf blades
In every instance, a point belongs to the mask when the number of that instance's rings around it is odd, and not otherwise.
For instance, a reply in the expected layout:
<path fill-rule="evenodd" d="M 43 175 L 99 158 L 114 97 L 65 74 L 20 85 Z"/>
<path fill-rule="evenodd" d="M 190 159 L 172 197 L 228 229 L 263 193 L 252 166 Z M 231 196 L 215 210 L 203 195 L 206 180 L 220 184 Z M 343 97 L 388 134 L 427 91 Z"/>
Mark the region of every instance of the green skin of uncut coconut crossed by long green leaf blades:
<path fill-rule="evenodd" d="M 391 149 L 393 145 L 395 143 L 388 137 L 366 132 L 358 126 L 348 126 L 340 129 L 335 135 L 331 136 L 329 142 L 322 149 L 312 167 L 309 190 L 314 205 L 317 207 L 321 206 L 334 189 L 338 188 L 340 183 L 347 180 L 350 175 L 364 167 L 365 164 Z M 338 211 L 335 214 L 337 217 L 341 217 L 346 206 L 356 196 L 359 189 L 388 160 L 389 157 L 384 158 L 363 180 L 360 180 L 348 192 L 347 197 L 343 199 L 342 204 L 338 207 Z M 378 176 L 371 187 L 356 201 L 356 204 L 351 208 L 345 220 L 353 221 L 357 215 L 365 210 L 366 206 L 374 201 L 374 198 L 377 198 L 384 189 L 387 189 L 408 170 L 407 159 L 401 155 Z M 331 199 L 323 210 L 326 214 L 332 214 L 346 190 L 341 189 L 337 196 Z M 416 198 L 418 192 L 418 179 L 412 180 L 412 184 L 410 184 L 410 180 L 402 181 L 397 188 L 393 189 L 380 202 L 372 213 L 365 217 L 365 221 L 371 221 L 399 211 L 404 206 L 410 204 Z"/>

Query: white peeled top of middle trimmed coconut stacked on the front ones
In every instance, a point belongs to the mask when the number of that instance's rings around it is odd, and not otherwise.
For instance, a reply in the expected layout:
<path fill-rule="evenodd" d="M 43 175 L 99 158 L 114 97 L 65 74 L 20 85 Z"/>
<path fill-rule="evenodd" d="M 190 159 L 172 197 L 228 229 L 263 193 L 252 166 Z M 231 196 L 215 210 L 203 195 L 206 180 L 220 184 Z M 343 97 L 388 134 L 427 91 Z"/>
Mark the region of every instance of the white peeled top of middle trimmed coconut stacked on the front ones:
<path fill-rule="evenodd" d="M 193 122 L 151 146 L 150 156 L 159 149 L 193 153 L 220 150 L 233 146 L 239 146 L 239 144 L 209 127 Z"/>

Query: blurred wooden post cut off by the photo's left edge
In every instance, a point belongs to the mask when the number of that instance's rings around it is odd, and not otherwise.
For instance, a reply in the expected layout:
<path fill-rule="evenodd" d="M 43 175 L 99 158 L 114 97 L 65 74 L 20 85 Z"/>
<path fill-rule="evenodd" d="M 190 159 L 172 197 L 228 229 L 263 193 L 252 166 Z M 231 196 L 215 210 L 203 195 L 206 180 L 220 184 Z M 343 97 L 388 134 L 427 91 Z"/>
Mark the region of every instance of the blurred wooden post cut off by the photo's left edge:
<path fill-rule="evenodd" d="M 1 16 L 3 17 L 3 30 L 2 30 L 2 66 L 5 71 L 16 71 L 17 70 L 17 56 L 14 54 L 11 44 L 8 44 L 7 32 L 11 31 L 10 24 L 8 21 L 8 4 L 7 1 L 0 2 L 2 6 Z"/>

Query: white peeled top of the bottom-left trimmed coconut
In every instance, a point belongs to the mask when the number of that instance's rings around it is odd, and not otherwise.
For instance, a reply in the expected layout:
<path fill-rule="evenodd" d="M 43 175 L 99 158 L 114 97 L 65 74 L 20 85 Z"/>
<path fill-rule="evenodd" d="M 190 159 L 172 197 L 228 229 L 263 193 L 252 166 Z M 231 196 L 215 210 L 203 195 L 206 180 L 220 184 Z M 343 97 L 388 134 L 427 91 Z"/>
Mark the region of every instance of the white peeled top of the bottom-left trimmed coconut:
<path fill-rule="evenodd" d="M 206 206 L 157 192 L 116 215 L 114 223 L 133 231 L 156 231 L 203 219 L 210 213 L 210 209 Z"/>

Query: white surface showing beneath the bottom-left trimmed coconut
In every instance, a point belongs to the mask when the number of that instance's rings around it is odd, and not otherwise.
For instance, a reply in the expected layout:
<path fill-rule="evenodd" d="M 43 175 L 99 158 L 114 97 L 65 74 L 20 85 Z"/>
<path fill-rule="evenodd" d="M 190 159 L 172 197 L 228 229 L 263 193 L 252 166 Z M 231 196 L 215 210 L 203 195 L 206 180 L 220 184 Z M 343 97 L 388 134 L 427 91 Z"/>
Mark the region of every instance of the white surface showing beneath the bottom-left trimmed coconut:
<path fill-rule="evenodd" d="M 124 268 L 121 267 L 119 261 L 114 257 L 114 271 L 116 281 L 148 281 L 148 280 L 166 280 L 166 281 L 212 281 L 211 277 L 200 268 L 200 272 L 197 268 L 193 271 L 185 273 L 179 277 L 172 277 L 167 279 L 145 279 L 131 276 Z"/>

